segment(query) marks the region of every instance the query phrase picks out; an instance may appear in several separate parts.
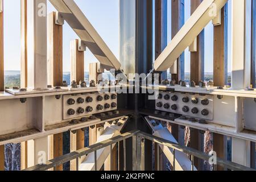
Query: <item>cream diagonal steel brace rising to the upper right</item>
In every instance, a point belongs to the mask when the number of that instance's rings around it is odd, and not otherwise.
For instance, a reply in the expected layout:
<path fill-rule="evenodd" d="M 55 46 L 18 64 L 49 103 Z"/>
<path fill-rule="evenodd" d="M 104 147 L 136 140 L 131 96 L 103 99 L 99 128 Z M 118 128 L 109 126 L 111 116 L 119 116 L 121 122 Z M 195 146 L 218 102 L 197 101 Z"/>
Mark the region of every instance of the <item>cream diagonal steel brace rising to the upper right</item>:
<path fill-rule="evenodd" d="M 210 20 L 215 18 L 214 12 L 219 12 L 226 2 L 227 0 L 204 0 L 201 2 L 196 11 L 177 32 L 171 43 L 156 59 L 154 69 L 156 71 L 166 71 L 171 68 L 177 57 L 192 44 Z"/>

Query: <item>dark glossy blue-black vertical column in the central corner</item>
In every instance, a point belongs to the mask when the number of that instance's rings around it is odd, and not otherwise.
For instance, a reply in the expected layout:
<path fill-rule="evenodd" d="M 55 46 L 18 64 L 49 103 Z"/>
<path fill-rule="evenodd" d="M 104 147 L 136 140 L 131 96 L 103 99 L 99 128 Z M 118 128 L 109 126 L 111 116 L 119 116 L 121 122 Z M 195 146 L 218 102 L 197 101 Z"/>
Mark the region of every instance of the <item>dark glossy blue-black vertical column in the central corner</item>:
<path fill-rule="evenodd" d="M 136 73 L 149 73 L 152 69 L 152 0 L 136 0 Z M 135 112 L 139 129 L 148 131 L 146 123 L 139 117 L 138 110 L 144 107 L 143 94 L 135 94 Z M 146 141 L 144 148 L 145 169 L 152 169 L 152 142 Z M 138 164 L 137 164 L 138 165 Z"/>

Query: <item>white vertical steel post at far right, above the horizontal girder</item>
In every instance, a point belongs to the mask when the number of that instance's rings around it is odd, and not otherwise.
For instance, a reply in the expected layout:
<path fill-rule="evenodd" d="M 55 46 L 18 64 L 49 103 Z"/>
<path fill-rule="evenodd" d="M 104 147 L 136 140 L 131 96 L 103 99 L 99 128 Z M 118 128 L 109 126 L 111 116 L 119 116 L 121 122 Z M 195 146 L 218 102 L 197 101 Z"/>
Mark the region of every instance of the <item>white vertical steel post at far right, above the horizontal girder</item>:
<path fill-rule="evenodd" d="M 251 1 L 232 1 L 232 89 L 250 87 Z"/>

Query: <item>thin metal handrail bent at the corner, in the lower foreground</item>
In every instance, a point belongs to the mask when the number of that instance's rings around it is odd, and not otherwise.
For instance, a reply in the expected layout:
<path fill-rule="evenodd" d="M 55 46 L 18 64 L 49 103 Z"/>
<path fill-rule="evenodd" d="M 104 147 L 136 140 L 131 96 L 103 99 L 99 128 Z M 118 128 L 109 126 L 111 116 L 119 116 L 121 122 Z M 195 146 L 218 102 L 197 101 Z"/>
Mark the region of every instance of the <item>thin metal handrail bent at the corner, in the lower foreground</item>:
<path fill-rule="evenodd" d="M 133 166 L 134 171 L 135 170 L 140 171 L 140 170 L 144 169 L 144 152 L 145 152 L 144 151 L 144 142 L 146 140 L 150 140 L 151 142 L 155 142 L 158 144 L 162 144 L 166 147 L 170 147 L 170 148 L 172 148 L 172 150 L 175 150 L 175 152 L 180 151 L 180 152 L 184 152 L 185 154 L 189 154 L 192 156 L 192 161 L 193 161 L 194 157 L 203 159 L 206 161 L 208 161 L 211 157 L 210 155 L 204 154 L 203 152 L 195 150 L 193 148 L 180 146 L 179 144 L 170 142 L 169 140 L 155 137 L 153 135 L 143 133 L 142 131 L 133 130 L 128 133 L 118 135 L 117 137 L 114 137 L 112 139 L 102 141 L 101 143 L 93 144 L 90 147 L 85 147 L 85 148 L 82 148 L 81 150 L 71 152 L 70 154 L 66 154 L 64 156 L 60 156 L 58 158 L 49 160 L 48 162 L 46 162 L 46 164 L 41 164 L 41 165 L 36 165 L 34 167 L 30 167 L 28 169 L 25 169 L 24 171 L 46 171 L 47 169 L 51 169 L 51 168 L 55 168 L 55 170 L 56 170 L 56 166 L 58 166 L 60 164 L 64 164 L 71 160 L 81 158 L 82 156 L 88 155 L 92 152 L 94 153 L 94 152 L 100 150 L 101 148 L 108 147 L 110 145 L 121 142 L 128 138 L 133 138 L 133 154 L 137 155 L 136 160 L 134 160 L 135 158 L 133 158 L 133 163 L 137 164 L 136 168 L 135 168 L 135 166 Z M 137 150 L 134 150 L 134 146 L 136 146 Z M 255 169 L 242 166 L 241 164 L 229 162 L 228 160 L 217 158 L 216 161 L 217 161 L 217 165 L 223 166 L 228 169 L 232 169 L 234 171 L 255 171 Z M 193 167 L 193 162 L 191 165 Z"/>

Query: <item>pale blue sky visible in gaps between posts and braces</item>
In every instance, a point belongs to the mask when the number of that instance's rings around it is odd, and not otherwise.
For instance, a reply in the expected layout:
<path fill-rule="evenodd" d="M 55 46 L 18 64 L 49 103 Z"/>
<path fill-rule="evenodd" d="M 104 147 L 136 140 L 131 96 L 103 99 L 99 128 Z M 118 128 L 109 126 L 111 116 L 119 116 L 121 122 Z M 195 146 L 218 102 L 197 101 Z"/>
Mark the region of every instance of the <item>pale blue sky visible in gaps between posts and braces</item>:
<path fill-rule="evenodd" d="M 171 0 L 168 7 L 171 7 Z M 106 44 L 119 59 L 119 0 L 75 0 L 94 28 L 105 40 Z M 15 6 L 14 6 L 15 3 Z M 230 3 L 230 1 L 229 1 Z M 54 11 L 48 3 L 48 13 Z M 230 11 L 229 11 L 230 13 Z M 168 17 L 171 8 L 168 8 Z M 230 14 L 231 15 L 231 14 Z M 185 21 L 190 16 L 190 0 L 185 0 Z M 230 22 L 230 21 L 229 21 Z M 20 0 L 5 1 L 5 70 L 20 70 Z M 229 23 L 230 28 L 230 23 Z M 230 29 L 229 29 L 230 30 Z M 71 68 L 69 59 L 69 44 L 77 35 L 68 26 L 63 27 L 63 71 Z M 205 28 L 205 72 L 212 72 L 213 68 L 213 26 L 211 23 Z M 229 39 L 230 40 L 230 39 Z M 171 41 L 171 18 L 168 18 L 168 43 Z M 230 41 L 229 41 L 230 45 Z M 229 46 L 230 52 L 230 46 Z M 230 54 L 229 54 L 230 55 Z M 89 63 L 97 61 L 90 53 L 85 52 L 85 71 Z M 189 52 L 185 52 L 185 72 L 189 72 Z M 230 57 L 229 57 L 230 71 Z"/>

